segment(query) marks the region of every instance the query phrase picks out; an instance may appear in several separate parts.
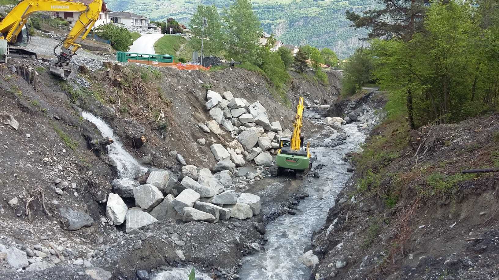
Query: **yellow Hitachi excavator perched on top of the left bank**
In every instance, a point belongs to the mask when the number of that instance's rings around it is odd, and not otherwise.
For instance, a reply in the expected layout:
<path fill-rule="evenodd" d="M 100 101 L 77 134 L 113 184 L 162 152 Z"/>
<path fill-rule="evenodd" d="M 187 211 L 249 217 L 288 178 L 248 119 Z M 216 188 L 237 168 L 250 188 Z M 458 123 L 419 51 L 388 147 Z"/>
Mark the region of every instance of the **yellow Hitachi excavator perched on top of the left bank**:
<path fill-rule="evenodd" d="M 94 0 L 89 4 L 82 2 L 70 2 L 62 0 L 22 0 L 20 1 L 0 22 L 0 63 L 7 63 L 9 51 L 20 54 L 36 55 L 23 49 L 14 49 L 10 46 L 26 46 L 29 43 L 29 34 L 25 27 L 30 14 L 36 11 L 73 11 L 79 12 L 78 20 L 75 22 L 69 34 L 54 47 L 54 55 L 57 62 L 50 65 L 50 72 L 63 79 L 72 76 L 71 58 L 81 47 L 76 40 L 81 36 L 84 40 L 95 21 L 99 18 L 102 10 L 103 0 Z M 59 54 L 56 49 L 61 47 Z"/>

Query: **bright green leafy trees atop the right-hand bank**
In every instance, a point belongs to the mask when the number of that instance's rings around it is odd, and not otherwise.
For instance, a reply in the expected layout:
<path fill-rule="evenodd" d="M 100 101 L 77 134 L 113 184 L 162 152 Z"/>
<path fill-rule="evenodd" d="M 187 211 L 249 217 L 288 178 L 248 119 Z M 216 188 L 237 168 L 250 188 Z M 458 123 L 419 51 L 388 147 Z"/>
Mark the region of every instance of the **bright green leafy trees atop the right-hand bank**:
<path fill-rule="evenodd" d="M 374 73 L 392 92 L 390 108 L 412 114 L 416 126 L 460 121 L 497 107 L 497 27 L 484 25 L 474 8 L 452 0 L 432 3 L 425 30 L 410 41 L 373 41 Z M 408 96 L 412 109 L 400 110 Z"/>

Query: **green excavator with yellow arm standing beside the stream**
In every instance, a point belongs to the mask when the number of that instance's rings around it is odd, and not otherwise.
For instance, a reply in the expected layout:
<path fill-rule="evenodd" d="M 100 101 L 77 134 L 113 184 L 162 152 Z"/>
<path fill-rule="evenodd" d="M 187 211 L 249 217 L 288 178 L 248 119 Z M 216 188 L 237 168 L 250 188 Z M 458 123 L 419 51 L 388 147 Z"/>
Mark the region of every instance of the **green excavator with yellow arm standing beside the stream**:
<path fill-rule="evenodd" d="M 278 176 L 284 170 L 294 170 L 296 179 L 303 180 L 312 166 L 310 162 L 310 142 L 306 143 L 301 136 L 303 126 L 303 97 L 296 106 L 291 138 L 281 137 L 275 164 L 270 166 L 270 175 Z"/>

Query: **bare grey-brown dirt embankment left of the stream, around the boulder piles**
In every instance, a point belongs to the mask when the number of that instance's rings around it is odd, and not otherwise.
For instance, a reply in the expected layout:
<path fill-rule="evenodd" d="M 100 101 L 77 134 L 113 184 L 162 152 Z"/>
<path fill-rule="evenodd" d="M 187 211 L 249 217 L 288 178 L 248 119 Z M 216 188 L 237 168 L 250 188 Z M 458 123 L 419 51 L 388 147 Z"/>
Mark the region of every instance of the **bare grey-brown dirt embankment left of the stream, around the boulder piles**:
<path fill-rule="evenodd" d="M 30 74 L 12 73 L 9 66 L 14 64 L 30 67 Z M 100 133 L 79 116 L 79 108 L 110 124 L 139 161 L 178 173 L 171 151 L 182 154 L 188 164 L 211 168 L 216 161 L 210 145 L 233 140 L 229 133 L 206 134 L 196 126 L 210 120 L 205 108 L 208 89 L 231 91 L 250 103 L 260 101 L 270 121 L 280 121 L 285 129 L 292 126 L 294 106 L 285 104 L 297 101 L 296 85 L 309 99 L 326 102 L 334 98 L 334 87 L 294 77 L 288 95 L 280 97 L 269 92 L 262 77 L 244 69 L 212 73 L 135 65 L 93 69 L 64 82 L 51 77 L 48 68 L 36 61 L 12 59 L 1 68 L 0 104 L 5 114 L 0 112 L 0 252 L 2 245 L 29 255 L 34 251 L 28 257 L 40 263 L 39 270 L 23 272 L 19 276 L 23 279 L 90 279 L 86 270 L 96 269 L 92 274 L 97 268 L 110 271 L 116 279 L 132 278 L 140 269 L 187 263 L 235 278 L 242 256 L 264 244 L 263 215 L 217 224 L 165 220 L 127 236 L 124 228 L 109 225 L 106 219 L 105 199 L 116 170 L 108 158 L 96 156 L 89 139 L 99 139 Z M 330 85 L 337 83 L 333 78 Z M 17 129 L 4 124 L 11 118 L 18 122 Z M 309 122 L 303 127 L 308 135 L 317 129 Z M 146 142 L 137 146 L 140 136 Z M 201 138 L 206 139 L 204 145 L 197 142 Z M 255 191 L 267 181 L 260 182 Z M 273 207 L 279 201 L 289 203 L 290 195 L 280 192 L 272 201 L 262 200 L 264 206 Z M 88 214 L 92 225 L 67 231 L 62 207 Z M 213 242 L 207 243 L 207 237 Z M 185 260 L 178 250 L 183 250 Z M 1 254 L 2 265 L 7 264 Z M 10 263 L 6 267 L 2 277 L 18 274 Z"/>

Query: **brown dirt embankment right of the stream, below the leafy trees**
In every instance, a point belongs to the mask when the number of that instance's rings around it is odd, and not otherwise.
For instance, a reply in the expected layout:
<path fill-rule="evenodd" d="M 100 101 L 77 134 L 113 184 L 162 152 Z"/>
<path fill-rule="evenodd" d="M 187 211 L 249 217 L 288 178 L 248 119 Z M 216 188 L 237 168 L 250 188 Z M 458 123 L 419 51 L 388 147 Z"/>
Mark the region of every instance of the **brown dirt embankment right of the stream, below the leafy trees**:
<path fill-rule="evenodd" d="M 339 114 L 349 102 L 337 103 Z M 499 116 L 377 126 L 313 237 L 313 279 L 497 279 Z"/>

